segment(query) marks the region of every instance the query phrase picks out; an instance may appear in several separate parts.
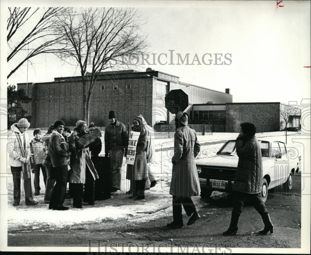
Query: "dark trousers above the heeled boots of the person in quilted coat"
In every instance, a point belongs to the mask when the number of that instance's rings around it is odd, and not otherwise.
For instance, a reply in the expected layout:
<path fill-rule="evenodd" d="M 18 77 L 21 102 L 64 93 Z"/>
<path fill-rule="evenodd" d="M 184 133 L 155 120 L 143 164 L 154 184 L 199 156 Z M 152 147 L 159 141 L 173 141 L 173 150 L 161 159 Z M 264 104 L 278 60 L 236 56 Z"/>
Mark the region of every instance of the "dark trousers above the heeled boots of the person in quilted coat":
<path fill-rule="evenodd" d="M 240 215 L 242 213 L 242 208 L 244 205 L 245 199 L 248 198 L 249 201 L 253 204 L 254 208 L 260 215 L 267 213 L 267 208 L 265 203 L 262 201 L 260 194 L 248 194 L 244 192 L 235 191 L 233 199 L 233 213 Z"/>

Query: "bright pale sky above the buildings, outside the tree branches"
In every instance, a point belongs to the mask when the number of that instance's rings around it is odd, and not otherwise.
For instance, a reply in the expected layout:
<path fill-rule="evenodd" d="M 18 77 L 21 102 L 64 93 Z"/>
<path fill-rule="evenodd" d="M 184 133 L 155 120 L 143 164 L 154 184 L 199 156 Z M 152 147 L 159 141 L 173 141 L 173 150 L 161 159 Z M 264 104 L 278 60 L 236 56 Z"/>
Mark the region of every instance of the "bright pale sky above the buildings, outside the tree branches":
<path fill-rule="evenodd" d="M 60 3 L 70 5 L 69 1 Z M 85 4 L 75 3 L 77 7 Z M 148 60 L 156 64 L 140 62 L 134 67 L 137 71 L 151 67 L 197 86 L 222 92 L 230 88 L 234 103 L 299 104 L 310 98 L 310 68 L 304 67 L 310 66 L 311 58 L 310 1 L 283 1 L 284 7 L 278 8 L 276 1 L 179 1 L 178 7 L 175 1 L 110 4 L 137 7 L 145 22 L 141 31 L 147 35 Z M 180 58 L 188 54 L 188 64 L 178 64 L 178 54 Z M 53 55 L 32 62 L 28 82 L 80 75 L 79 69 Z M 15 85 L 26 81 L 26 64 L 8 80 Z"/>

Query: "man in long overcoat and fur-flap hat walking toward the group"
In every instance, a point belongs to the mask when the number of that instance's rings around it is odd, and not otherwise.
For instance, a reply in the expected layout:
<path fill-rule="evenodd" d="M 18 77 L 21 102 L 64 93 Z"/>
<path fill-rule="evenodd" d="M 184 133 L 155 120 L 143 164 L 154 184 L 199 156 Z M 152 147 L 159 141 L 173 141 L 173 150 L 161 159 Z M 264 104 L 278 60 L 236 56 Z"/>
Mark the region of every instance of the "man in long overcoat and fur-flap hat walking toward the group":
<path fill-rule="evenodd" d="M 188 115 L 186 113 L 179 112 L 176 114 L 175 126 L 172 180 L 169 189 L 169 193 L 173 196 L 173 222 L 168 223 L 167 226 L 169 228 L 182 228 L 182 205 L 187 216 L 190 217 L 188 226 L 200 218 L 191 199 L 201 192 L 194 161 L 200 152 L 200 144 L 195 130 L 188 127 Z"/>

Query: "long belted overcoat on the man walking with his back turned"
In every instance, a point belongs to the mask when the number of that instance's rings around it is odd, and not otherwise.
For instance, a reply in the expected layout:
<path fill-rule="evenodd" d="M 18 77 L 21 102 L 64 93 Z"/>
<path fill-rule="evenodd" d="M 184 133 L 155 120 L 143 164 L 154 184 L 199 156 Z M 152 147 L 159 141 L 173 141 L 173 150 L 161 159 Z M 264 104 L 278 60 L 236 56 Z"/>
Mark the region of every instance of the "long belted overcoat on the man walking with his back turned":
<path fill-rule="evenodd" d="M 183 126 L 174 134 L 172 180 L 169 194 L 177 197 L 200 195 L 200 182 L 194 158 L 200 152 L 200 143 L 193 128 Z"/>

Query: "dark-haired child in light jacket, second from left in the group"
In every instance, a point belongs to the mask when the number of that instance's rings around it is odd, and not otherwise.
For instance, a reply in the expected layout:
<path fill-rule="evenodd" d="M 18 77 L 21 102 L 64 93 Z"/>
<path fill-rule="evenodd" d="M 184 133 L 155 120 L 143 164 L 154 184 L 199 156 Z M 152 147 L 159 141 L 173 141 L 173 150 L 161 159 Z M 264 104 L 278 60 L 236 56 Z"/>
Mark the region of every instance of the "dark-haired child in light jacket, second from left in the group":
<path fill-rule="evenodd" d="M 35 164 L 33 173 L 34 176 L 34 186 L 35 186 L 35 196 L 40 194 L 40 168 L 43 174 L 44 186 L 46 185 L 46 171 L 42 165 L 42 159 L 44 157 L 44 142 L 41 141 L 41 131 L 40 129 L 34 130 L 35 138 L 30 142 L 30 162 Z"/>

